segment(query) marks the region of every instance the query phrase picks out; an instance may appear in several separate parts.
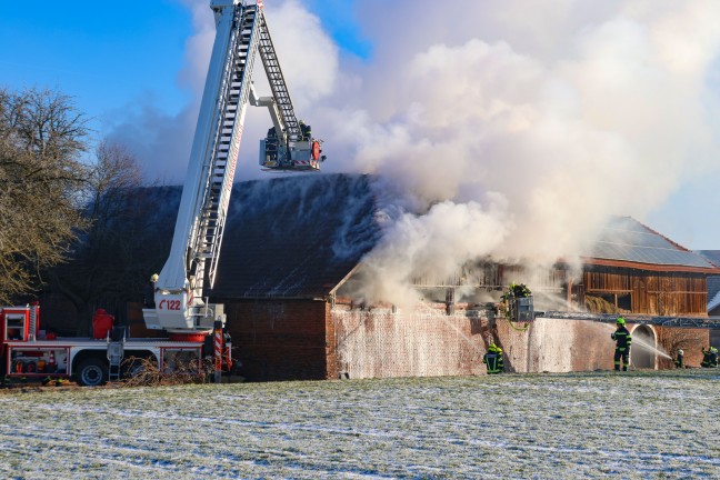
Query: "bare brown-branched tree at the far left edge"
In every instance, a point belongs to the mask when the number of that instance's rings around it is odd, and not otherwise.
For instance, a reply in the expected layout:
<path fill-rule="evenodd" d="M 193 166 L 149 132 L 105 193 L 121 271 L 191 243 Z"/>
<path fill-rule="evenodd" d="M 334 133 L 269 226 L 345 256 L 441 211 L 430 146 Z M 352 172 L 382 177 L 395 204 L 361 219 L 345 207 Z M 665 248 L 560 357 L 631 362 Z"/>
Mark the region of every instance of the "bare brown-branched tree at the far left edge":
<path fill-rule="evenodd" d="M 54 90 L 0 89 L 0 302 L 42 284 L 87 221 L 79 206 L 88 127 Z"/>

